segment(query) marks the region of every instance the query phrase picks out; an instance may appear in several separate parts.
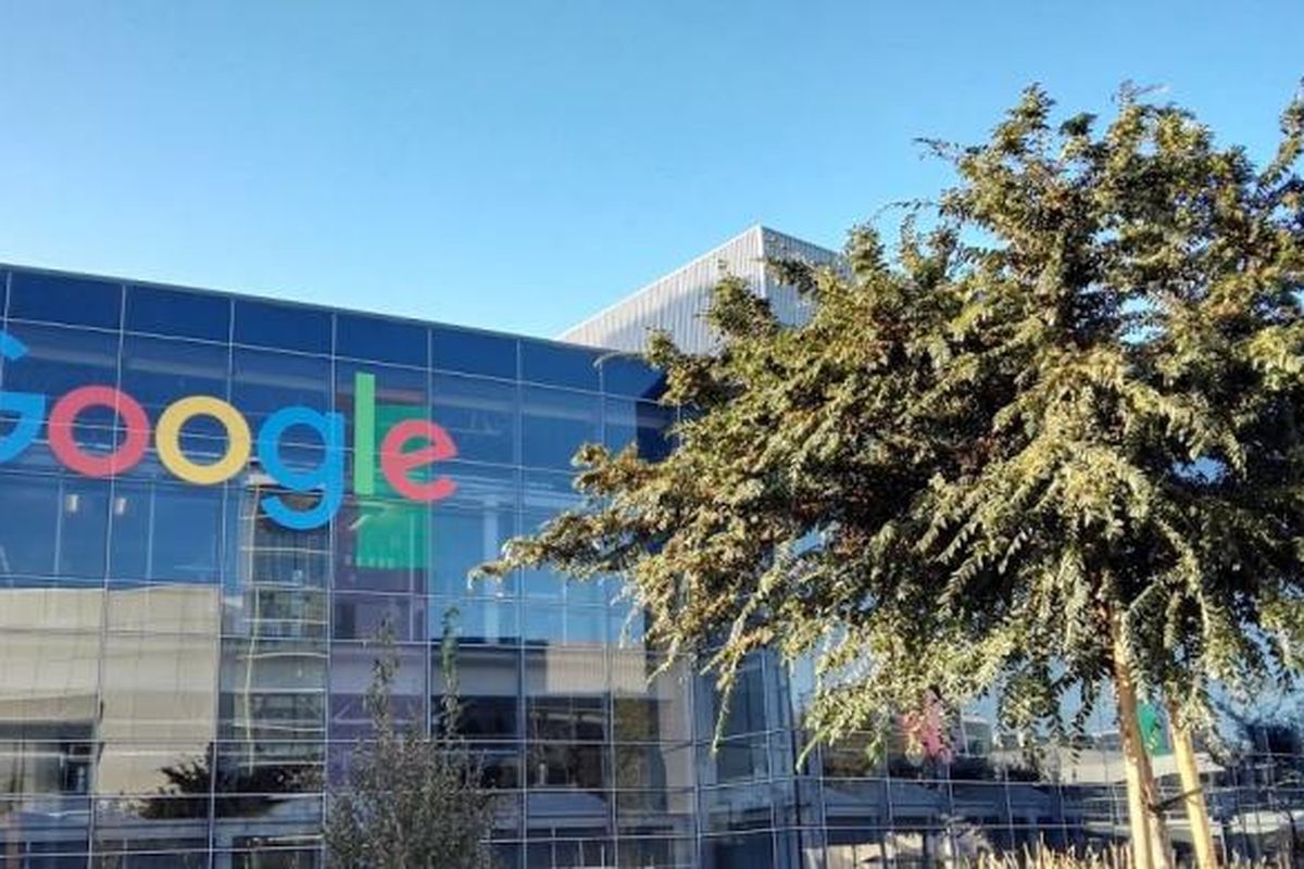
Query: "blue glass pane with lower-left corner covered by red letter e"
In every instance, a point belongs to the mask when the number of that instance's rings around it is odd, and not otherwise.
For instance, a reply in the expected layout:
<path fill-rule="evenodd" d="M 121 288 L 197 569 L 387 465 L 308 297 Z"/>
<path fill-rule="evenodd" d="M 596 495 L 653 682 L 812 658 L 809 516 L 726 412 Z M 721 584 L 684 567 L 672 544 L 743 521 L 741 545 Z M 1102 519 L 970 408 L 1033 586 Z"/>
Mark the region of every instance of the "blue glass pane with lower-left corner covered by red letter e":
<path fill-rule="evenodd" d="M 432 405 L 434 421 L 452 435 L 459 459 L 515 464 L 516 384 L 436 374 Z"/>

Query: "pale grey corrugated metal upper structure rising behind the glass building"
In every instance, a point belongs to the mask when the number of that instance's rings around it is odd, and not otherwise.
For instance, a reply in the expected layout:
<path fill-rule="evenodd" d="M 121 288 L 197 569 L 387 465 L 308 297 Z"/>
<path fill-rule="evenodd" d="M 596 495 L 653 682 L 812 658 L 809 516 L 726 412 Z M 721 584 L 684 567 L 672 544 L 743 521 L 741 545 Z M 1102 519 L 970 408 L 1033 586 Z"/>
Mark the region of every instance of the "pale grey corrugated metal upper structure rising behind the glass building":
<path fill-rule="evenodd" d="M 781 255 L 798 255 L 812 262 L 832 262 L 837 258 L 832 251 L 799 238 L 752 227 L 566 330 L 559 337 L 574 344 L 636 353 L 647 345 L 649 332 L 661 328 L 670 332 L 681 349 L 708 353 L 717 347 L 717 339 L 711 334 L 703 314 L 711 301 L 711 289 L 724 275 L 742 278 L 754 293 L 769 298 L 785 323 L 801 322 L 808 315 L 806 304 L 792 288 L 785 288 L 765 275 L 765 258 Z"/>

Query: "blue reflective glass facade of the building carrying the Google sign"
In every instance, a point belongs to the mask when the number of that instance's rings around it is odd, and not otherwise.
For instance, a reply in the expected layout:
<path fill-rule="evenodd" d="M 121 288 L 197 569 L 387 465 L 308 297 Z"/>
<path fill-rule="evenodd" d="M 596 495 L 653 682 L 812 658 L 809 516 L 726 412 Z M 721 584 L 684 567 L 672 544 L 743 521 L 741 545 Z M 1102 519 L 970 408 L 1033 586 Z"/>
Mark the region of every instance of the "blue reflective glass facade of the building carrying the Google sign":
<path fill-rule="evenodd" d="M 0 390 L 47 396 L 51 412 L 0 464 L 5 869 L 321 865 L 326 793 L 366 734 L 386 623 L 400 714 L 426 727 L 443 692 L 439 638 L 459 636 L 466 732 L 499 797 L 505 868 L 850 869 L 1123 834 L 1108 710 L 1098 737 L 1031 766 L 983 709 L 957 724 L 945 762 L 870 762 L 848 744 L 798 766 L 811 680 L 758 655 L 712 750 L 719 698 L 686 672 L 652 676 L 661 661 L 615 580 L 468 580 L 503 541 L 574 503 L 580 443 L 665 455 L 673 412 L 638 362 L 218 293 L 3 278 L 3 331 L 25 353 L 0 361 Z M 316 417 L 300 418 L 275 455 L 259 443 L 211 485 L 179 479 L 155 438 L 129 466 L 87 476 L 60 461 L 72 447 L 59 438 L 102 459 L 143 435 L 120 404 L 56 425 L 56 403 L 86 386 L 130 396 L 158 433 L 188 396 L 228 403 L 253 433 L 288 406 L 348 425 L 336 455 Z M 374 426 L 360 426 L 368 414 Z M 376 466 L 389 449 L 377 438 L 421 420 L 456 448 L 433 472 L 452 483 L 433 503 Z M 0 404 L 0 439 L 21 426 Z M 240 457 L 233 431 L 196 414 L 172 436 L 210 466 Z M 329 521 L 269 515 L 273 502 L 313 515 L 333 491 Z M 1292 812 L 1304 829 L 1304 758 L 1282 745 L 1209 760 L 1228 847 L 1282 847 Z M 1176 788 L 1171 758 L 1155 763 Z"/>

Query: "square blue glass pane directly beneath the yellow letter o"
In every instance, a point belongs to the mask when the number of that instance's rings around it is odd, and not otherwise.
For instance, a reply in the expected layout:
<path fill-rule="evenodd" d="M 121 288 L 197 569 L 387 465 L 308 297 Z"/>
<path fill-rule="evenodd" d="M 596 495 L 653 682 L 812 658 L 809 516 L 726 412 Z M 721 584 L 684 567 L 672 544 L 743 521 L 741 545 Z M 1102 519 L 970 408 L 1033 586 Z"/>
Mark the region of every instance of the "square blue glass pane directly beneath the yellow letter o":
<path fill-rule="evenodd" d="M 119 578 L 216 582 L 222 489 L 120 482 L 111 569 Z"/>

